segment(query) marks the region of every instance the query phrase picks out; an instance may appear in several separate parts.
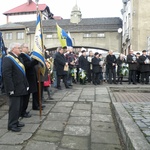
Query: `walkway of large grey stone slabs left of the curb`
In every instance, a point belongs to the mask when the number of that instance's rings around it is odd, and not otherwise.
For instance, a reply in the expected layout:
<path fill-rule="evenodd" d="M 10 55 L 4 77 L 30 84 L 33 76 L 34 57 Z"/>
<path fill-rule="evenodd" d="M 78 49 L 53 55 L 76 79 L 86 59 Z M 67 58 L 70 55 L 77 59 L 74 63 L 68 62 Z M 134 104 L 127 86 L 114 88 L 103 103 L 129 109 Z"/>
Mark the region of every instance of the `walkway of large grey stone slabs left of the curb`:
<path fill-rule="evenodd" d="M 56 91 L 39 117 L 23 118 L 21 132 L 7 130 L 8 106 L 0 108 L 0 150 L 122 150 L 106 86 L 74 85 Z"/>

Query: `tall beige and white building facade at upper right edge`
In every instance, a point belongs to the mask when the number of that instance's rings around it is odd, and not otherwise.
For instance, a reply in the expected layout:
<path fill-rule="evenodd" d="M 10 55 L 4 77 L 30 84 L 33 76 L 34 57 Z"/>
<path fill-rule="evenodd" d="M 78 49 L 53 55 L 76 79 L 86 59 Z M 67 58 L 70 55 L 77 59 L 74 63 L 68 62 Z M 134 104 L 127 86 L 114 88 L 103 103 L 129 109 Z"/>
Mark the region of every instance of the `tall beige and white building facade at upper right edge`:
<path fill-rule="evenodd" d="M 134 51 L 150 50 L 150 0 L 123 1 L 123 32 L 122 47 L 125 54 L 130 49 Z"/>

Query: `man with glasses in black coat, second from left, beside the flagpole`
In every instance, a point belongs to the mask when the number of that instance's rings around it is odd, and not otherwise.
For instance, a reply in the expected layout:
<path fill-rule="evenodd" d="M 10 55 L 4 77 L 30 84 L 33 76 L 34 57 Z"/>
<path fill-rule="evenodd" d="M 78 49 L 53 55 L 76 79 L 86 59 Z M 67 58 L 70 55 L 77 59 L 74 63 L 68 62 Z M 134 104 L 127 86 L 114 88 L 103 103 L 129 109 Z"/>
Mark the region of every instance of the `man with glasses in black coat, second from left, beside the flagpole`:
<path fill-rule="evenodd" d="M 19 55 L 19 57 L 22 58 L 23 60 L 25 70 L 26 70 L 26 77 L 29 83 L 28 94 L 23 96 L 21 117 L 29 118 L 31 117 L 31 114 L 27 112 L 27 108 L 28 108 L 30 93 L 37 92 L 37 77 L 36 77 L 36 71 L 35 71 L 34 66 L 38 64 L 38 61 L 36 61 L 35 59 L 32 59 L 29 56 L 29 49 L 28 49 L 27 44 L 24 43 L 21 45 L 21 51 L 22 53 Z M 33 99 L 33 105 L 35 103 L 34 101 L 37 101 L 37 99 L 36 100 Z"/>

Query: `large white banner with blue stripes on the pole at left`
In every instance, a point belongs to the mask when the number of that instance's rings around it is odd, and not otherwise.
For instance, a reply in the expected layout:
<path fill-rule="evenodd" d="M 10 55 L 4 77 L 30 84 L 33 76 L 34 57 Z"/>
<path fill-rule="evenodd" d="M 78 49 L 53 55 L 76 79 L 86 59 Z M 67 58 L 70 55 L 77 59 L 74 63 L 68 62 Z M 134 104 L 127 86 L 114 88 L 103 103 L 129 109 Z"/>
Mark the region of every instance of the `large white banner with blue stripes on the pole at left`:
<path fill-rule="evenodd" d="M 44 51 L 43 51 L 43 33 L 41 28 L 41 14 L 39 12 L 36 21 L 36 30 L 34 36 L 34 46 L 31 58 L 36 59 L 40 62 L 40 70 L 41 73 L 44 75 L 45 73 L 45 60 L 44 60 Z"/>

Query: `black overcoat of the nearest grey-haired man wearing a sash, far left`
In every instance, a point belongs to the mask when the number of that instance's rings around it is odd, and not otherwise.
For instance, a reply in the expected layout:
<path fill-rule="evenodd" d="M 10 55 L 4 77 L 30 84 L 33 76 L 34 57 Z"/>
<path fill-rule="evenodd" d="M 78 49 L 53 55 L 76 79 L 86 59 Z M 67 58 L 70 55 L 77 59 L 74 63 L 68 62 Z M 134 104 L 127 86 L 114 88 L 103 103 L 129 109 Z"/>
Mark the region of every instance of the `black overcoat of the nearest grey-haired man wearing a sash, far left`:
<path fill-rule="evenodd" d="M 10 55 L 17 58 L 12 53 L 10 53 Z M 11 58 L 7 56 L 4 58 L 2 68 L 6 93 L 9 95 L 11 91 L 14 91 L 14 94 L 11 96 L 22 96 L 28 94 L 27 87 L 29 87 L 29 84 L 27 78 Z"/>

